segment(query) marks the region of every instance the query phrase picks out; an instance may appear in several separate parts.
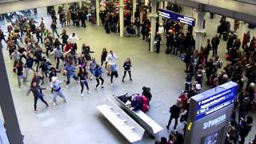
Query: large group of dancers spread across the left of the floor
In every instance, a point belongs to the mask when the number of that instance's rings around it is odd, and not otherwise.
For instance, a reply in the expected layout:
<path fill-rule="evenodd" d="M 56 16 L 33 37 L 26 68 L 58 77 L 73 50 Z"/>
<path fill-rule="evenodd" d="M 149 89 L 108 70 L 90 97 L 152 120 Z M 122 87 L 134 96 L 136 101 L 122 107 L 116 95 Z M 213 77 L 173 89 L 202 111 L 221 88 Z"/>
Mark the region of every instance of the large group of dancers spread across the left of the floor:
<path fill-rule="evenodd" d="M 104 77 L 106 76 L 103 76 L 105 73 L 110 77 L 111 86 L 114 85 L 114 78 L 118 78 L 118 66 L 115 62 L 118 57 L 113 50 L 108 51 L 103 48 L 101 62 L 96 62 L 95 58 L 90 55 L 94 53 L 90 50 L 90 46 L 82 44 L 81 53 L 79 53 L 77 42 L 81 38 L 78 38 L 75 33 L 67 35 L 65 29 L 58 34 L 57 23 L 54 18 L 52 20 L 51 32 L 46 29 L 43 18 L 41 22 L 36 22 L 33 18 L 24 17 L 18 19 L 14 26 L 7 25 L 7 35 L 0 30 L 0 40 L 6 42 L 6 50 L 9 50 L 10 58 L 14 62 L 13 73 L 17 74 L 18 87 L 22 88 L 23 84 L 26 84 L 31 70 L 34 73 L 27 94 L 32 92 L 34 95 L 35 112 L 38 99 L 49 107 L 42 92 L 46 90 L 46 85 L 50 86 L 50 91 L 54 95 L 53 105 L 55 106 L 57 96 L 61 97 L 64 102 L 68 102 L 62 89 L 62 82 L 65 82 L 68 88 L 71 78 L 74 79 L 74 82 L 80 83 L 80 94 L 83 96 L 85 86 L 87 93 L 90 94 L 89 86 L 93 78 L 97 82 L 94 86 L 95 90 L 98 90 L 100 84 L 101 88 L 105 87 L 106 78 Z M 126 73 L 132 81 L 130 58 L 126 59 L 122 67 L 124 71 L 122 82 L 125 82 Z M 66 76 L 66 80 L 58 78 L 60 73 Z"/>

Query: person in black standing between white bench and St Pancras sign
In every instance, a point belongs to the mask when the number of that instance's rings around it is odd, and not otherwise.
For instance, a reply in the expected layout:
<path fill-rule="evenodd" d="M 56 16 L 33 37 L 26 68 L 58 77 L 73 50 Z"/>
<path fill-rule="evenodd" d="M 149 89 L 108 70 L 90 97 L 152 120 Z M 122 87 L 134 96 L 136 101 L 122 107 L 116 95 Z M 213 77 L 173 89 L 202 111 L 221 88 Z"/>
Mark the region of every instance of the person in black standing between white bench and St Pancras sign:
<path fill-rule="evenodd" d="M 169 130 L 170 122 L 174 118 L 175 124 L 174 124 L 174 130 L 176 130 L 176 126 L 178 125 L 178 117 L 182 109 L 182 102 L 180 99 L 177 99 L 176 104 L 170 107 L 170 119 L 168 122 L 168 125 L 166 126 L 167 130 Z"/>

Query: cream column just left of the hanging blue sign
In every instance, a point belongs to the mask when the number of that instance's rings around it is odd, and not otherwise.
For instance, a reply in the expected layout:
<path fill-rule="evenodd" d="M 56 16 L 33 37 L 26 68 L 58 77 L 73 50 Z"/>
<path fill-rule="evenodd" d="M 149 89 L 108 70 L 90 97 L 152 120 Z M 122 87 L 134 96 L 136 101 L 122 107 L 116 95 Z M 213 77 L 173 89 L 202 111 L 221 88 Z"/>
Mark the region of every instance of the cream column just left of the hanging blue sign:
<path fill-rule="evenodd" d="M 155 30 L 156 30 L 156 18 L 158 18 L 157 14 L 157 1 L 152 1 L 152 8 L 151 13 L 149 14 L 149 18 L 151 19 L 151 35 L 150 35 L 150 51 L 154 52 L 154 37 L 155 37 Z"/>

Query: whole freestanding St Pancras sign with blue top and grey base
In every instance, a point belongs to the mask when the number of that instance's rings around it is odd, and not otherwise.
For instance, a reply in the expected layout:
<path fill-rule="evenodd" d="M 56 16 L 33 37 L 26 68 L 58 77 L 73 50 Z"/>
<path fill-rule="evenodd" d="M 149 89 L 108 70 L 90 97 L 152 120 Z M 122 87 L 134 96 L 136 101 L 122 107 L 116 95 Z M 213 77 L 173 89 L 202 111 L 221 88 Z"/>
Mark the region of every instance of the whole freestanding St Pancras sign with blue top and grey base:
<path fill-rule="evenodd" d="M 226 82 L 191 97 L 186 144 L 224 143 L 237 90 L 237 83 Z"/>

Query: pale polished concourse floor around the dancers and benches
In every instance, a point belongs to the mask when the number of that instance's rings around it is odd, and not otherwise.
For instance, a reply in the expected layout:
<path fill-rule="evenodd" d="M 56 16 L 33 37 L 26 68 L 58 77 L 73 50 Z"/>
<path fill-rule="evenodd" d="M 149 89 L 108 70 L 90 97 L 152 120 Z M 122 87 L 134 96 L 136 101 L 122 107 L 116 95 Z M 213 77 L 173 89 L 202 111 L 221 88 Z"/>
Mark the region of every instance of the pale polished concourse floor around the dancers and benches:
<path fill-rule="evenodd" d="M 191 10 L 186 9 L 186 14 Z M 209 20 L 206 15 L 207 37 L 211 38 L 215 33 L 219 18 Z M 46 25 L 50 26 L 49 18 L 45 18 Z M 61 27 L 61 26 L 59 26 Z M 59 28 L 60 32 L 62 29 Z M 10 73 L 12 62 L 5 54 L 7 72 L 10 80 L 10 86 L 14 98 L 14 104 L 18 114 L 19 124 L 22 134 L 25 135 L 26 144 L 82 144 L 82 143 L 125 143 L 126 141 L 110 127 L 110 124 L 104 119 L 99 118 L 99 112 L 96 106 L 101 105 L 106 97 L 112 94 L 123 94 L 125 92 L 140 93 L 142 86 L 150 86 L 153 98 L 150 104 L 150 111 L 147 113 L 150 118 L 158 122 L 163 128 L 169 119 L 169 107 L 174 104 L 180 90 L 184 88 L 184 68 L 177 56 L 164 54 L 165 46 L 162 46 L 161 53 L 150 53 L 148 43 L 140 38 L 119 38 L 118 34 L 106 34 L 102 26 L 94 26 L 87 22 L 87 27 L 66 27 L 68 34 L 75 32 L 79 38 L 78 50 L 81 50 L 82 43 L 89 45 L 92 54 L 97 62 L 100 61 L 102 47 L 107 50 L 114 50 L 118 56 L 118 74 L 119 78 L 114 79 L 114 86 L 110 86 L 110 77 L 106 74 L 103 76 L 106 89 L 94 90 L 96 85 L 95 79 L 89 82 L 91 94 L 79 94 L 80 85 L 71 81 L 70 88 L 64 89 L 64 93 L 70 102 L 64 103 L 58 99 L 58 105 L 52 105 L 52 94 L 50 94 L 49 83 L 46 82 L 44 87 L 47 90 L 45 99 L 50 102 L 50 109 L 46 109 L 42 102 L 38 102 L 38 113 L 33 112 L 33 96 L 26 96 L 29 82 L 23 88 L 18 88 L 16 75 Z M 204 40 L 205 41 L 205 38 Z M 219 53 L 223 58 L 226 43 L 222 42 Z M 122 83 L 122 63 L 126 58 L 131 58 L 133 69 L 133 81 L 128 79 Z M 54 63 L 54 62 L 53 62 Z M 31 75 L 29 81 L 31 80 Z M 61 79 L 65 79 L 59 74 Z M 172 126 L 170 126 L 172 127 Z M 182 131 L 182 124 L 178 123 L 178 130 Z M 248 138 L 252 139 L 255 130 L 250 133 Z M 167 136 L 166 129 L 159 133 L 161 136 Z M 142 141 L 138 143 L 154 143 L 154 139 L 145 135 Z"/>

